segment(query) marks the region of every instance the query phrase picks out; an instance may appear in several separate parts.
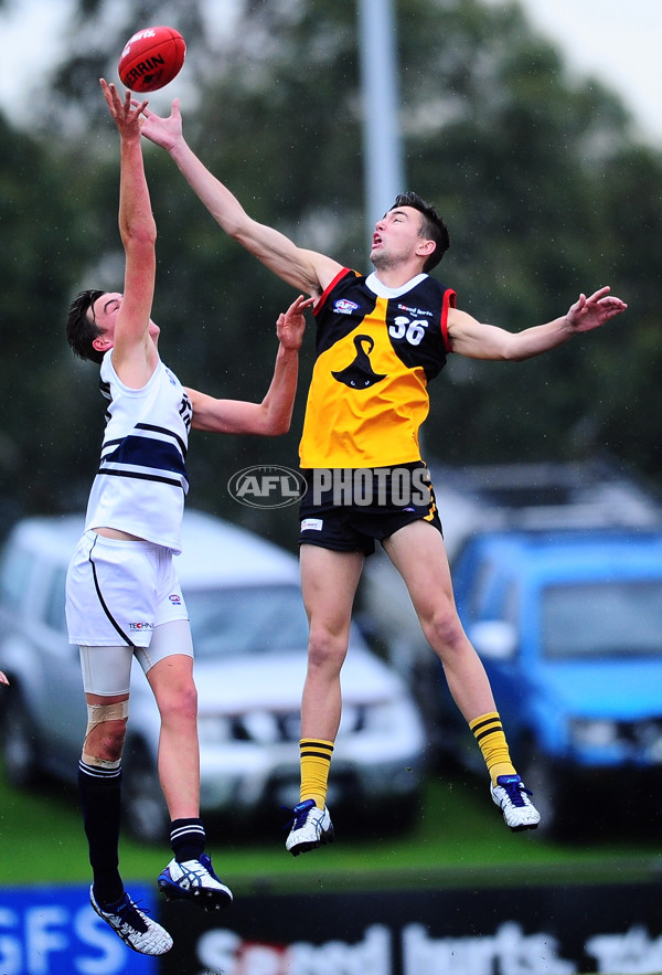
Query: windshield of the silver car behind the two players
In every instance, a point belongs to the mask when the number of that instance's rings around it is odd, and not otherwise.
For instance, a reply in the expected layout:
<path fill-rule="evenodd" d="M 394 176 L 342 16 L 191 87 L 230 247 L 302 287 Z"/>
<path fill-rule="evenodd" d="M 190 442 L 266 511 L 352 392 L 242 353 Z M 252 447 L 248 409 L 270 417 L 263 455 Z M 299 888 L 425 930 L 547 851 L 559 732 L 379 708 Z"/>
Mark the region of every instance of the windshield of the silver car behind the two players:
<path fill-rule="evenodd" d="M 196 659 L 306 649 L 308 622 L 296 585 L 184 589 Z"/>

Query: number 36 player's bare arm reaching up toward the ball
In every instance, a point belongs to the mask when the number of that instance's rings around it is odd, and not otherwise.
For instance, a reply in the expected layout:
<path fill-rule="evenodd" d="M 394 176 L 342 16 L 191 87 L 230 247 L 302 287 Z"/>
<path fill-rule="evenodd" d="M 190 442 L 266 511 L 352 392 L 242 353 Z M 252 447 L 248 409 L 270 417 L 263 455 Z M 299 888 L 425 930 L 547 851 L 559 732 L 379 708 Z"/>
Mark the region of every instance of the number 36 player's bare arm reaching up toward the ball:
<path fill-rule="evenodd" d="M 184 139 L 179 99 L 167 118 L 143 110 L 142 135 L 170 153 L 192 190 L 220 226 L 282 280 L 319 297 L 341 268 L 337 261 L 298 247 L 289 237 L 253 220 L 237 198 L 214 177 Z"/>

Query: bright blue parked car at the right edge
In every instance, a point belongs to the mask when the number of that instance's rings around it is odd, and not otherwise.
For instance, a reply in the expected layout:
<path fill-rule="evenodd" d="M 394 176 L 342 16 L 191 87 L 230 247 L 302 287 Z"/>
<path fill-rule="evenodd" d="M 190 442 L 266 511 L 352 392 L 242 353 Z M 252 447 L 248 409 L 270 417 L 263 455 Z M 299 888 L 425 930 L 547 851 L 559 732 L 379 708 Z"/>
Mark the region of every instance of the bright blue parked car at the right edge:
<path fill-rule="evenodd" d="M 662 532 L 483 532 L 453 580 L 541 828 L 662 812 Z"/>

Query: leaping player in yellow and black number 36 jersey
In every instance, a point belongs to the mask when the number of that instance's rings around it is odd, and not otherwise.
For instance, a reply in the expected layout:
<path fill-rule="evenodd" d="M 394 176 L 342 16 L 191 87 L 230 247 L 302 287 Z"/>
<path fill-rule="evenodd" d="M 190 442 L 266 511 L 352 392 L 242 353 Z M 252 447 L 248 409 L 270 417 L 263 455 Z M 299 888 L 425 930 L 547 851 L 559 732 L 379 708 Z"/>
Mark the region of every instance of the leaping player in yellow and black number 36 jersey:
<path fill-rule="evenodd" d="M 427 414 L 427 383 L 446 353 L 530 359 L 598 328 L 626 304 L 604 287 L 581 294 L 565 315 L 519 333 L 478 321 L 455 307 L 452 289 L 430 286 L 428 272 L 441 259 L 448 232 L 414 193 L 398 197 L 377 222 L 370 254 L 375 271 L 361 277 L 253 220 L 186 145 L 177 100 L 168 118 L 149 108 L 143 114 L 143 135 L 170 153 L 221 227 L 282 280 L 316 298 L 321 332 L 301 441 L 309 484 L 301 506 L 301 584 L 310 638 L 301 794 L 286 848 L 297 856 L 333 837 L 325 794 L 341 716 L 340 672 L 354 594 L 375 540 L 403 576 L 444 665 L 485 760 L 494 803 L 511 829 L 534 829 L 540 815 L 512 764 L 489 680 L 456 612 L 434 495 L 429 485 L 427 494 L 424 489 L 418 425 Z M 365 488 L 367 474 L 376 481 L 366 499 L 356 491 Z M 402 490 L 403 477 L 409 478 L 410 497 Z"/>

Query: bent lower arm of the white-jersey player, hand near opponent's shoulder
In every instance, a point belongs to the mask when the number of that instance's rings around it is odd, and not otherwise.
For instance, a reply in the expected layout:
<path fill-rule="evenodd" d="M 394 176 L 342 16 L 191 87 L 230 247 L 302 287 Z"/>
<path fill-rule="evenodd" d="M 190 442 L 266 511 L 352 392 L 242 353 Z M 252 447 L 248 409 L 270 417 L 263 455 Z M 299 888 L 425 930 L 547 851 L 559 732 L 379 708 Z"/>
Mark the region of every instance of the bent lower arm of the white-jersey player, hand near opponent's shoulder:
<path fill-rule="evenodd" d="M 242 400 L 215 400 L 196 390 L 188 390 L 193 404 L 193 428 L 211 433 L 259 434 L 287 433 L 292 418 L 299 371 L 299 349 L 306 329 L 303 311 L 312 298 L 302 295 L 278 316 L 279 339 L 274 377 L 261 403 Z"/>

